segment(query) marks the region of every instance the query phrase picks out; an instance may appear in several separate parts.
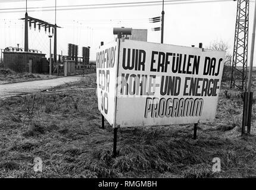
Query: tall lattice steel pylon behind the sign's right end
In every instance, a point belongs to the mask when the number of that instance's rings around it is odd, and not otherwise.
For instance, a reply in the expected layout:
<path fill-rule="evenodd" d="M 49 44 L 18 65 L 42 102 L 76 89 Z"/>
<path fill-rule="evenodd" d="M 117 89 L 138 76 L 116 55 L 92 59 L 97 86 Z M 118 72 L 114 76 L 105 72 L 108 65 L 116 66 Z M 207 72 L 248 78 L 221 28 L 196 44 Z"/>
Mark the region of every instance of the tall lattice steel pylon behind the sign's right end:
<path fill-rule="evenodd" d="M 238 0 L 230 88 L 238 87 L 245 91 L 247 84 L 248 29 L 249 0 Z"/>

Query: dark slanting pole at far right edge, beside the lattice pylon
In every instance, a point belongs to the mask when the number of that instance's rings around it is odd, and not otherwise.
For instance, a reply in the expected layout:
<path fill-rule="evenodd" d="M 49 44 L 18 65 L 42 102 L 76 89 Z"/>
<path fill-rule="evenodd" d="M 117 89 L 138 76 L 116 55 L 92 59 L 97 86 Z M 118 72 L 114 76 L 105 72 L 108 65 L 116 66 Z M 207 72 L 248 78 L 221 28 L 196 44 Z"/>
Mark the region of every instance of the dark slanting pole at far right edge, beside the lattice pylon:
<path fill-rule="evenodd" d="M 250 69 L 249 69 L 249 78 L 248 78 L 248 106 L 247 106 L 247 113 L 248 113 L 248 124 L 247 124 L 247 134 L 251 134 L 251 113 L 252 112 L 252 98 L 253 92 L 251 93 L 251 83 L 252 83 L 252 66 L 254 62 L 254 45 L 255 45 L 255 30 L 256 30 L 256 3 L 254 5 L 254 25 L 252 29 L 252 43 L 251 43 L 251 58 L 250 58 Z"/>

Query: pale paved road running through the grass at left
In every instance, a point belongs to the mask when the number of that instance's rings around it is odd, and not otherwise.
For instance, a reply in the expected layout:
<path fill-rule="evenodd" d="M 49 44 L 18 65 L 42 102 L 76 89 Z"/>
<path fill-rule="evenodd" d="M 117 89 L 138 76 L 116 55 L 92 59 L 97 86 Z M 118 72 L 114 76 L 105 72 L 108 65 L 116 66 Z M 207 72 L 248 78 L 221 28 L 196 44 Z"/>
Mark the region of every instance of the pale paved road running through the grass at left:
<path fill-rule="evenodd" d="M 1 84 L 0 85 L 0 99 L 11 96 L 18 96 L 21 94 L 36 93 L 42 90 L 47 90 L 57 85 L 62 85 L 65 83 L 72 83 L 79 81 L 83 77 L 61 77 L 50 80 L 40 80 L 40 81 L 29 81 L 23 83 L 13 83 L 13 84 Z"/>

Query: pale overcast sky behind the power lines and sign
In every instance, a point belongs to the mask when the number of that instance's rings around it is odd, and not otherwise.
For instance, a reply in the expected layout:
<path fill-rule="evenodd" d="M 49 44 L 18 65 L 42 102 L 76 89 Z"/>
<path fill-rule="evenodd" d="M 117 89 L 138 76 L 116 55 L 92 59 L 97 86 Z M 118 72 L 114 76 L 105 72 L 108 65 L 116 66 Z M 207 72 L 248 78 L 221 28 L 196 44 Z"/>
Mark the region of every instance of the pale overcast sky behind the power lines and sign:
<path fill-rule="evenodd" d="M 147 0 L 139 0 L 143 2 Z M 148 0 L 153 1 L 153 0 Z M 187 2 L 193 0 L 185 0 Z M 214 0 L 213 0 L 214 1 Z M 136 2 L 134 0 L 57 0 L 57 6 L 109 4 L 120 2 Z M 138 2 L 138 1 L 137 1 Z M 229 52 L 233 53 L 235 35 L 236 1 L 218 1 L 188 4 L 167 4 L 165 11 L 164 43 L 182 46 L 210 45 L 216 40 L 229 43 Z M 55 12 L 44 11 L 40 7 L 55 6 L 55 0 L 28 1 L 28 7 L 38 7 L 28 10 L 31 17 L 55 23 Z M 26 7 L 24 0 L 0 0 L 0 48 L 7 46 L 24 47 L 24 10 L 20 12 L 6 12 L 5 8 Z M 161 16 L 161 5 L 118 8 L 95 8 L 57 11 L 58 54 L 67 55 L 67 44 L 79 45 L 79 54 L 82 46 L 91 47 L 91 60 L 95 59 L 95 50 L 101 41 L 105 43 L 114 40 L 113 27 L 132 27 L 133 29 L 148 29 L 148 42 L 160 42 L 161 31 L 151 31 L 152 27 L 160 27 L 161 23 L 149 23 L 148 18 Z M 7 10 L 10 11 L 10 10 Z M 11 10 L 13 11 L 13 10 Z M 254 15 L 254 2 L 250 3 L 250 23 Z M 251 40 L 251 28 L 249 40 Z M 250 49 L 249 45 L 249 49 Z M 49 53 L 48 33 L 41 29 L 29 30 L 29 48 Z M 254 64 L 256 65 L 256 64 Z"/>

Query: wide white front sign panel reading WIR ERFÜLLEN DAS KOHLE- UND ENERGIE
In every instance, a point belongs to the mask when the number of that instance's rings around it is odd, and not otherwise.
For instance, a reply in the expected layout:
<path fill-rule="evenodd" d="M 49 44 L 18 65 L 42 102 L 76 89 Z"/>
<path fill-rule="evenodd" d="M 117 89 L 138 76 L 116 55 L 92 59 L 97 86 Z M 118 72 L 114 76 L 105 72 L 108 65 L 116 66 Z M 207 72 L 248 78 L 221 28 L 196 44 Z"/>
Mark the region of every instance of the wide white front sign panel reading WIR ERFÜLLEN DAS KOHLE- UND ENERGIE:
<path fill-rule="evenodd" d="M 212 122 L 224 58 L 225 52 L 195 47 L 120 42 L 118 68 L 110 74 L 114 115 L 105 118 L 121 127 Z M 98 83 L 101 100 L 99 91 Z"/>

